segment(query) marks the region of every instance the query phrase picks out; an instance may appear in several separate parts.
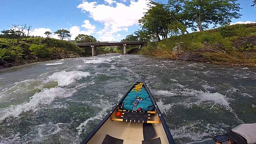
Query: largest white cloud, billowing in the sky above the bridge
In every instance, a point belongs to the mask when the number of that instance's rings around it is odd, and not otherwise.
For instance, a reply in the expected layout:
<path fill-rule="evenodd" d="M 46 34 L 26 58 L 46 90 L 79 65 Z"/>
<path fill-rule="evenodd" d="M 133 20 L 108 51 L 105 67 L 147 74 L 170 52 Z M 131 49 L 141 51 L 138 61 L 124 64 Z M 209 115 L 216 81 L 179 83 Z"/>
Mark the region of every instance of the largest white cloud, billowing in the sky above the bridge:
<path fill-rule="evenodd" d="M 118 3 L 113 0 L 105 0 L 107 3 L 116 3 L 116 6 L 97 4 L 96 1 L 83 1 L 78 5 L 83 12 L 89 12 L 93 20 L 103 23 L 104 28 L 101 33 L 116 33 L 118 31 L 128 31 L 128 27 L 138 24 L 143 13 L 148 9 L 148 0 L 130 1 L 130 5 Z M 102 34 L 99 36 L 102 41 L 115 39 L 113 34 Z"/>

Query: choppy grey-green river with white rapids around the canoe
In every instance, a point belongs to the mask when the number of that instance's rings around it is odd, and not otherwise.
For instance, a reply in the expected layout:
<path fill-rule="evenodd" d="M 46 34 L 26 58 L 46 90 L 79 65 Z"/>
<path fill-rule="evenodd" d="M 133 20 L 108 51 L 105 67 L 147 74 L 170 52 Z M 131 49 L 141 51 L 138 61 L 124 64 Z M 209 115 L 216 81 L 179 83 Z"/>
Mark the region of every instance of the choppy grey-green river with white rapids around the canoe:
<path fill-rule="evenodd" d="M 255 68 L 108 54 L 0 70 L 0 144 L 79 144 L 137 77 L 177 144 L 256 122 Z"/>

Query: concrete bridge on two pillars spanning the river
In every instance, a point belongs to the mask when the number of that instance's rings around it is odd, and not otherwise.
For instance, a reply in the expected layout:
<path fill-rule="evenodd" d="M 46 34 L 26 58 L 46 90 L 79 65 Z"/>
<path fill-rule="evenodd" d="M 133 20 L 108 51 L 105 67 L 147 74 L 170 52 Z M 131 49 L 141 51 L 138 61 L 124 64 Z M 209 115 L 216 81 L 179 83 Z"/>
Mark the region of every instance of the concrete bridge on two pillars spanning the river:
<path fill-rule="evenodd" d="M 147 42 L 144 41 L 109 41 L 109 42 L 85 42 L 85 43 L 75 43 L 76 46 L 80 48 L 91 48 L 92 56 L 97 56 L 96 48 L 97 46 L 124 46 L 123 54 L 126 54 L 127 45 L 145 45 Z"/>

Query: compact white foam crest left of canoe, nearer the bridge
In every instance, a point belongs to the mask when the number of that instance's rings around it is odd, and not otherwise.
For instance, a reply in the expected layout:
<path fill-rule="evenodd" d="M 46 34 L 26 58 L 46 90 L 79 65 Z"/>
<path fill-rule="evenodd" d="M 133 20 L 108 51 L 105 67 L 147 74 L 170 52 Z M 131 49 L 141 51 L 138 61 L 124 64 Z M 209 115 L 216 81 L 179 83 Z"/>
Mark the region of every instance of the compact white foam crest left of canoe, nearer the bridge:
<path fill-rule="evenodd" d="M 51 76 L 48 76 L 48 79 L 58 82 L 58 86 L 67 86 L 71 83 L 74 83 L 75 80 L 79 80 L 79 79 L 82 79 L 82 77 L 87 77 L 87 76 L 90 76 L 89 72 L 61 71 L 61 72 L 54 72 Z"/>

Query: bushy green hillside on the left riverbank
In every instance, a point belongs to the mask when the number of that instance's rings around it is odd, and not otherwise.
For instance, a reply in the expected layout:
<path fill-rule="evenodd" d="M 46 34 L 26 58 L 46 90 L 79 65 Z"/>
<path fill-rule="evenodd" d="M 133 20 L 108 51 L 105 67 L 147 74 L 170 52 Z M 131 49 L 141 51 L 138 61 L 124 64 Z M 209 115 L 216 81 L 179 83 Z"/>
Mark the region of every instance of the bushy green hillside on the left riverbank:
<path fill-rule="evenodd" d="M 68 41 L 53 38 L 27 38 L 16 44 L 15 39 L 0 38 L 0 66 L 9 67 L 35 61 L 90 55 Z"/>

